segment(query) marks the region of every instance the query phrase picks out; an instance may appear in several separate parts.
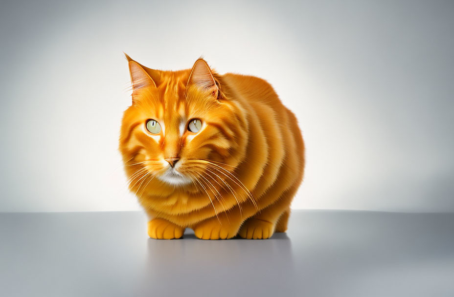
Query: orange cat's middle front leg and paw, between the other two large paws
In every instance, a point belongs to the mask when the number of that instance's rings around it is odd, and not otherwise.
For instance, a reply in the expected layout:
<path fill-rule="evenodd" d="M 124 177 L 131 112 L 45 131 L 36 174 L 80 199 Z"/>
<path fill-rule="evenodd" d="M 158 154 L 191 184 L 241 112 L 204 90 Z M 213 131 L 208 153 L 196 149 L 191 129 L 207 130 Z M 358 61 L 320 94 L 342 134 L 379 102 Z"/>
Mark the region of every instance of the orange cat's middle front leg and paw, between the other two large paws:
<path fill-rule="evenodd" d="M 218 213 L 217 216 L 208 218 L 192 226 L 194 234 L 200 239 L 229 239 L 234 237 L 244 218 L 237 207 L 227 212 Z"/>

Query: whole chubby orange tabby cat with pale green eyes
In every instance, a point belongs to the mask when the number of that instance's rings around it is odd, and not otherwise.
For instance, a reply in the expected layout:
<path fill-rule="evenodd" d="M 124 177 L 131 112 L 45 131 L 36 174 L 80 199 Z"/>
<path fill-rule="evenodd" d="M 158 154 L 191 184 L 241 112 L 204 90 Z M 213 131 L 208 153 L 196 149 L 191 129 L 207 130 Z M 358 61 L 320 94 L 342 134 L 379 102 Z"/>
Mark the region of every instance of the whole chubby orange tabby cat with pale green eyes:
<path fill-rule="evenodd" d="M 159 71 L 126 56 L 133 86 L 120 151 L 148 235 L 265 239 L 285 232 L 303 176 L 295 115 L 266 81 L 192 69 Z"/>

